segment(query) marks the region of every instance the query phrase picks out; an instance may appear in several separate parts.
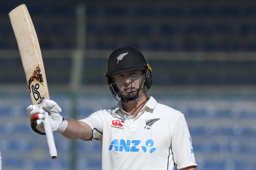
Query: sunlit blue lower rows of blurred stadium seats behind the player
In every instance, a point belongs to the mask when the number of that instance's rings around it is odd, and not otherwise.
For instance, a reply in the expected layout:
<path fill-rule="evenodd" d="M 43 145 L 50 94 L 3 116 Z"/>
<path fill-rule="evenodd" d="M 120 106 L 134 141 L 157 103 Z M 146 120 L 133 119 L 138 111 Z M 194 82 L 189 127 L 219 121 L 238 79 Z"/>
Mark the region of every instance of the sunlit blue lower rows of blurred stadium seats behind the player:
<path fill-rule="evenodd" d="M 111 95 L 86 97 L 83 94 L 79 103 L 77 119 L 87 117 L 90 113 L 114 106 L 116 101 Z M 22 97 L 22 96 L 20 96 Z M 70 99 L 67 95 L 51 96 L 62 107 L 62 115 L 70 118 Z M 189 96 L 191 97 L 191 96 Z M 203 169 L 253 169 L 255 166 L 255 121 L 254 106 L 256 98 L 239 99 L 203 99 L 194 97 L 166 98 L 155 96 L 159 103 L 167 104 L 182 111 L 187 120 L 193 142 L 193 149 L 198 164 L 198 170 Z M 2 103 L 2 100 L 0 103 Z M 10 99 L 11 100 L 11 99 Z M 19 101 L 19 96 L 17 98 Z M 20 100 L 21 101 L 21 100 Z M 95 103 L 95 105 L 93 105 Z M 98 104 L 101 103 L 102 105 Z M 77 169 L 101 169 L 101 144 L 98 141 L 82 141 L 66 139 L 61 134 L 54 133 L 58 150 L 57 160 L 51 160 L 43 135 L 34 133 L 26 114 L 26 105 L 30 100 L 18 102 L 17 109 L 7 109 L 11 103 L 0 106 L 0 149 L 3 167 L 6 169 L 69 169 L 71 143 L 76 143 Z M 212 107 L 214 106 L 214 107 Z M 22 111 L 23 110 L 23 111 Z M 6 114 L 7 113 L 7 114 Z M 22 121 L 15 121 L 18 116 Z M 9 121 L 7 121 L 9 120 Z M 243 158 L 241 158 L 243 155 Z M 41 160 L 42 159 L 42 160 Z M 38 165 L 39 164 L 39 165 Z"/>

